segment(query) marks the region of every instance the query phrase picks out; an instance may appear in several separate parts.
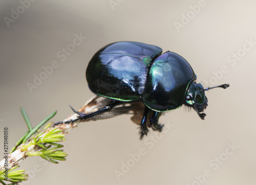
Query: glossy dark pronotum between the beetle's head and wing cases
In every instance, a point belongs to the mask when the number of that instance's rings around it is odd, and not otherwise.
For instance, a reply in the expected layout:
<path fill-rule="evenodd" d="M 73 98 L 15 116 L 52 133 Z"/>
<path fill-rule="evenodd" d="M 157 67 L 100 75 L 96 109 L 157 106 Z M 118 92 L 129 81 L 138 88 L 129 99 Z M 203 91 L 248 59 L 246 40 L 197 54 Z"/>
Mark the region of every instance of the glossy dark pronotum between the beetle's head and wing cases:
<path fill-rule="evenodd" d="M 196 75 L 180 55 L 166 52 L 153 61 L 147 77 L 143 103 L 155 111 L 179 108 Z"/>

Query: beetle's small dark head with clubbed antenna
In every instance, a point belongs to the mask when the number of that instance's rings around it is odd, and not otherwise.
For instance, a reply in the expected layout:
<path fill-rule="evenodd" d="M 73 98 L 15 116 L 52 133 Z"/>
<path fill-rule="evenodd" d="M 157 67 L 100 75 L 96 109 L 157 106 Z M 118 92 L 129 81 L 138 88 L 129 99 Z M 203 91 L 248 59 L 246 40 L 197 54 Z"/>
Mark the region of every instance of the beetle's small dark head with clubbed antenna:
<path fill-rule="evenodd" d="M 200 112 L 203 112 L 204 109 L 206 109 L 206 107 L 208 106 L 208 99 L 205 96 L 205 91 L 216 87 L 227 88 L 229 87 L 229 84 L 223 84 L 204 89 L 200 83 L 192 82 L 189 89 L 187 90 L 187 94 L 183 102 L 184 105 L 194 108 L 194 110 L 196 110 L 196 112 L 198 113 L 199 117 L 204 120 L 206 114 Z"/>

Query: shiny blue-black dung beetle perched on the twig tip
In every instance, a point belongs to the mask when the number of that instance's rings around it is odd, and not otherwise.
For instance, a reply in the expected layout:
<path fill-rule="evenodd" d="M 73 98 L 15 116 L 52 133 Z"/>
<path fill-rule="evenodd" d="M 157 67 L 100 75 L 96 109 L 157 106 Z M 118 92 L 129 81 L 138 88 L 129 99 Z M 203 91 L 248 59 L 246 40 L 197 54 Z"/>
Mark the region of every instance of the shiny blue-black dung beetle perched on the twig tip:
<path fill-rule="evenodd" d="M 204 89 L 196 83 L 197 76 L 183 57 L 169 51 L 162 54 L 162 49 L 156 45 L 132 41 L 115 42 L 101 48 L 88 64 L 86 79 L 94 94 L 111 101 L 87 114 L 71 107 L 79 114 L 76 120 L 91 119 L 125 102 L 141 101 L 145 105 L 141 138 L 148 132 L 148 119 L 154 130 L 161 131 L 163 125 L 158 123 L 161 113 L 182 104 L 194 108 L 204 120 L 206 114 L 200 112 L 208 105 L 205 91 L 229 86 L 223 84 Z"/>

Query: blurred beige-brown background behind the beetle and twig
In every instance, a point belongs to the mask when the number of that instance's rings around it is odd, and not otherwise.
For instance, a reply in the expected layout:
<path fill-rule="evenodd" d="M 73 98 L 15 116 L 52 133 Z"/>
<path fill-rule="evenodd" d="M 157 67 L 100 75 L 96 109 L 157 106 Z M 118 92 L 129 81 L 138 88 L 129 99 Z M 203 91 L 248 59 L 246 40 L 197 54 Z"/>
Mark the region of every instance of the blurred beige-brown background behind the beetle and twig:
<path fill-rule="evenodd" d="M 253 0 L 2 0 L 0 131 L 9 127 L 9 147 L 27 131 L 20 106 L 35 126 L 54 110 L 53 121 L 65 119 L 68 105 L 78 109 L 93 96 L 84 73 L 111 42 L 158 45 L 183 56 L 205 87 L 230 84 L 206 92 L 204 121 L 195 111 L 170 111 L 160 119 L 169 129 L 143 141 L 129 115 L 80 124 L 67 135 L 67 161 L 20 163 L 30 174 L 24 184 L 255 184 L 255 7 Z M 35 76 L 43 80 L 29 89 Z"/>

